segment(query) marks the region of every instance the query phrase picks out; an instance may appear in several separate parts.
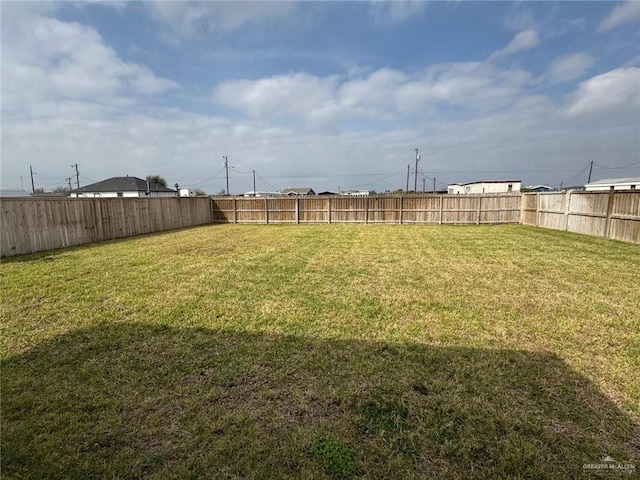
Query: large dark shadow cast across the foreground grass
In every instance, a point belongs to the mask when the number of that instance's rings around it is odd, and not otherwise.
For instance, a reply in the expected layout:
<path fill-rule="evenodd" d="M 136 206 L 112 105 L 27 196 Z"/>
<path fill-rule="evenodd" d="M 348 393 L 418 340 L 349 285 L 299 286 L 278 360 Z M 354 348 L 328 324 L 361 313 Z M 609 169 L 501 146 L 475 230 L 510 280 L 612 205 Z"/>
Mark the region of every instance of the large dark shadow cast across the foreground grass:
<path fill-rule="evenodd" d="M 2 365 L 3 478 L 597 478 L 639 438 L 524 351 L 111 324 Z"/>

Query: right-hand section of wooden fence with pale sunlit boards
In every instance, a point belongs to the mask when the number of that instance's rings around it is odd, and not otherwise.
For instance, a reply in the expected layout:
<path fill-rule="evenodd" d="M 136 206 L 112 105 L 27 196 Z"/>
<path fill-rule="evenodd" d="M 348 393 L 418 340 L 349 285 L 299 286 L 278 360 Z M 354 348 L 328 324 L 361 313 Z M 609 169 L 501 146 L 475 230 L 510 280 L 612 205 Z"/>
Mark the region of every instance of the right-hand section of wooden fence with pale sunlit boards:
<path fill-rule="evenodd" d="M 640 191 L 526 194 L 521 223 L 640 243 Z"/>

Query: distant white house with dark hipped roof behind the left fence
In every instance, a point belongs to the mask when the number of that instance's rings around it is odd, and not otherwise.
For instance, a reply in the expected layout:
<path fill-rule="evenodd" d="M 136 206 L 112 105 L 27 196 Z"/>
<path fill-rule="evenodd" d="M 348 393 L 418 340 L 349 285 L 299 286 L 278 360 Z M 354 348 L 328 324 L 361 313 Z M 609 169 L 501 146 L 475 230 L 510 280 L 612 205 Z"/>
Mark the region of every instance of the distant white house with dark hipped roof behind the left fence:
<path fill-rule="evenodd" d="M 75 198 L 175 197 L 177 192 L 138 177 L 113 177 L 71 190 Z"/>

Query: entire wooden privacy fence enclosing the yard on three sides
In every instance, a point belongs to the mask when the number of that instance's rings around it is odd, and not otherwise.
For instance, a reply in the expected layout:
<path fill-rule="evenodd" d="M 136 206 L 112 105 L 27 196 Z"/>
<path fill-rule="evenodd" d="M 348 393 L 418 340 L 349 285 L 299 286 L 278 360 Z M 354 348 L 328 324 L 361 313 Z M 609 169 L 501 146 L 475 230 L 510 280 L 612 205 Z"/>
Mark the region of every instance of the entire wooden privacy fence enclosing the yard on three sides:
<path fill-rule="evenodd" d="M 640 191 L 371 197 L 3 198 L 3 257 L 211 223 L 521 223 L 640 243 Z"/>

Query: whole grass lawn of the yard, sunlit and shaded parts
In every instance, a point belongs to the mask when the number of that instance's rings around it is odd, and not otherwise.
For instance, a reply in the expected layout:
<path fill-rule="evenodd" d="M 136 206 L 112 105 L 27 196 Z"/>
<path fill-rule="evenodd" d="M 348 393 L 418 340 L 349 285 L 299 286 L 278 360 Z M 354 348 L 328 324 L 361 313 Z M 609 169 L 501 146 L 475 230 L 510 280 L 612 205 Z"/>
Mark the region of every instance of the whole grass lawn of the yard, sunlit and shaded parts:
<path fill-rule="evenodd" d="M 638 245 L 220 225 L 0 274 L 6 479 L 640 470 Z"/>

